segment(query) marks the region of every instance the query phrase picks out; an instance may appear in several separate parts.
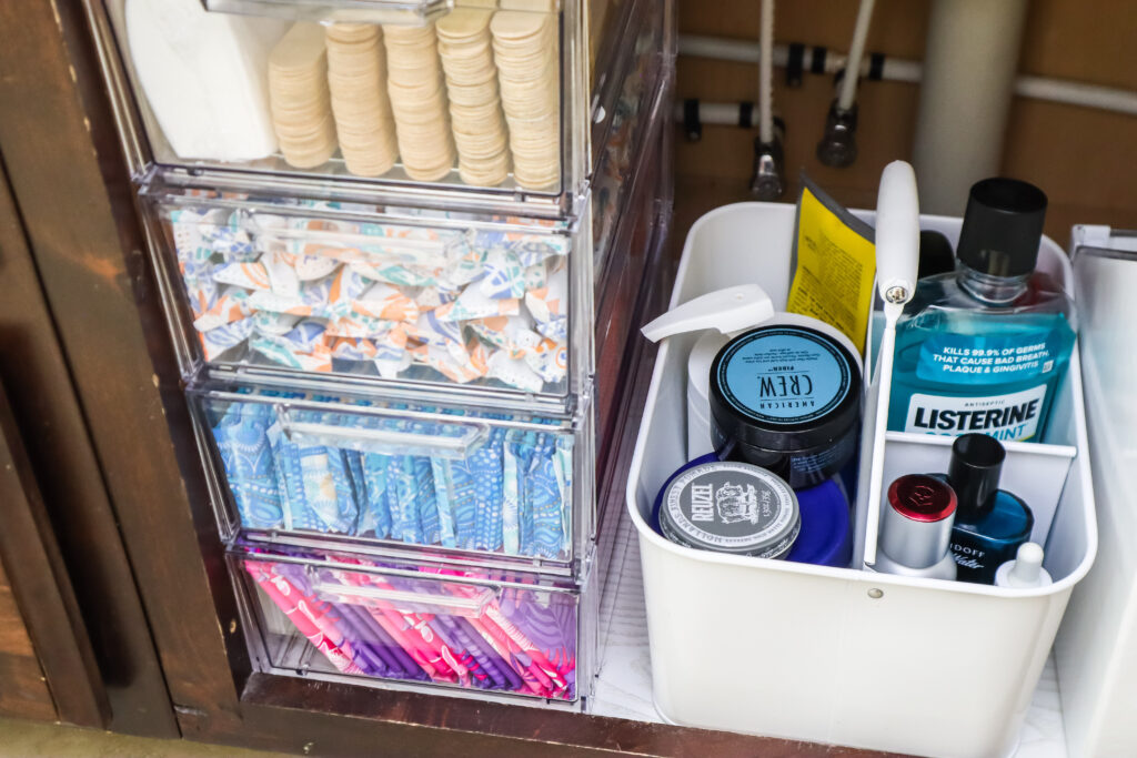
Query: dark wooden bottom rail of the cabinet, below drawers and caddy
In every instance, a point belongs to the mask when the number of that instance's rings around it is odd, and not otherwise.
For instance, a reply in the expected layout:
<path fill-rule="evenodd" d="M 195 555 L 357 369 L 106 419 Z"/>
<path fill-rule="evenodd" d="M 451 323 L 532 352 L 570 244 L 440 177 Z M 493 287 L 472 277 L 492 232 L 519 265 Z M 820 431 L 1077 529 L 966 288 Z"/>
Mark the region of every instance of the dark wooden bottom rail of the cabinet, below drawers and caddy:
<path fill-rule="evenodd" d="M 329 686 L 266 675 L 249 680 L 243 699 L 248 732 L 281 738 L 259 747 L 330 758 L 367 753 L 437 756 L 442 752 L 464 758 L 613 753 L 716 758 L 870 758 L 885 755 L 620 718 Z M 291 724 L 287 732 L 281 728 L 282 717 Z M 370 733 L 352 728 L 352 723 L 360 719 L 371 719 Z"/>

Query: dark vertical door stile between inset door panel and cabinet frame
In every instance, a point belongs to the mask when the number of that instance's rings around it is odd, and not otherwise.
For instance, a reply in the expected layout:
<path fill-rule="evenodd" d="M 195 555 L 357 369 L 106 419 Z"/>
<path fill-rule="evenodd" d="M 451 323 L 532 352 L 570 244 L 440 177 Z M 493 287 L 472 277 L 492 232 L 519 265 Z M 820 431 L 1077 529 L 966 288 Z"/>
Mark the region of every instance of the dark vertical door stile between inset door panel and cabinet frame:
<path fill-rule="evenodd" d="M 2 147 L 0 147 L 2 152 Z M 40 483 L 111 702 L 110 727 L 176 733 L 158 656 L 70 373 L 0 170 L 0 380 Z M 66 474 L 66 475 L 63 475 Z"/>

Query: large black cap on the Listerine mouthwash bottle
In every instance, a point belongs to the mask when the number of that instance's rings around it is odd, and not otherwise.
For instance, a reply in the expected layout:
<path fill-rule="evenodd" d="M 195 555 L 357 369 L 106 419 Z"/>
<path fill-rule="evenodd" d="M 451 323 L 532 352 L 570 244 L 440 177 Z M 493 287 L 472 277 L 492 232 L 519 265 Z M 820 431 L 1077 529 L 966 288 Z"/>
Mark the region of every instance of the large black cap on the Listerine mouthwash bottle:
<path fill-rule="evenodd" d="M 1046 193 L 1013 178 L 985 178 L 971 186 L 956 256 L 993 276 L 1035 270 L 1046 218 Z"/>

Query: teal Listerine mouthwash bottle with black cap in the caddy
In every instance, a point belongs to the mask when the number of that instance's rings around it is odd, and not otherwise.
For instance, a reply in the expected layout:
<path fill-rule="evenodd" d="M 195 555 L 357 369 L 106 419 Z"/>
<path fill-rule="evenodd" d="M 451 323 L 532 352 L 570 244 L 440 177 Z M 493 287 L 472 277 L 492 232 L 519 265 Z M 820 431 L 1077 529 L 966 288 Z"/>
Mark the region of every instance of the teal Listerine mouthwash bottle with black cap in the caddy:
<path fill-rule="evenodd" d="M 955 272 L 920 280 L 897 324 L 889 430 L 1041 440 L 1077 327 L 1035 270 L 1045 215 L 1032 184 L 971 188 Z"/>

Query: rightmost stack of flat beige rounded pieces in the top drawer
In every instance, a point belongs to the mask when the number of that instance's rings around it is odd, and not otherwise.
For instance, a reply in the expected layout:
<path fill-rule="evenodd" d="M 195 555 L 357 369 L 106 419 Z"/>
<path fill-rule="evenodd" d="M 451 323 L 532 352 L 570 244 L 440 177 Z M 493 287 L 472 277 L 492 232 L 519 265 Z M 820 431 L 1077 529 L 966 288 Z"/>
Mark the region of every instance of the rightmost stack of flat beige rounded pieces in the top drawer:
<path fill-rule="evenodd" d="M 554 14 L 500 10 L 490 22 L 514 180 L 530 190 L 561 178 L 561 70 Z"/>

